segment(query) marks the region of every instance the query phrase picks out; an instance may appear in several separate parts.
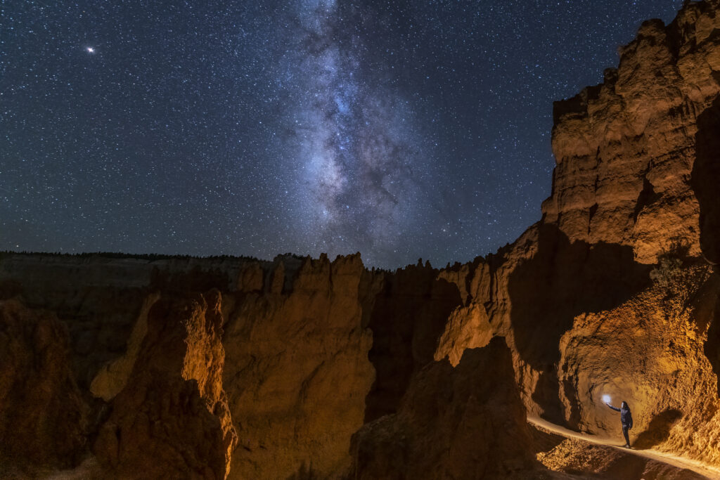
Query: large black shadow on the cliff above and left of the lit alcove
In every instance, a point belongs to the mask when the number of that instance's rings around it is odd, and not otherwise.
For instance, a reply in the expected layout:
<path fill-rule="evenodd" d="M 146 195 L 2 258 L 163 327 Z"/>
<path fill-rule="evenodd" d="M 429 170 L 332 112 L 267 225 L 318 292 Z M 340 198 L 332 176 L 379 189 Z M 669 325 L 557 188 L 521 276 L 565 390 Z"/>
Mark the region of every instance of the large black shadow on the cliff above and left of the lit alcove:
<path fill-rule="evenodd" d="M 518 355 L 541 372 L 534 401 L 547 420 L 565 423 L 557 380 L 560 338 L 577 314 L 611 309 L 642 290 L 649 267 L 634 261 L 629 246 L 570 243 L 554 225 L 541 225 L 538 237 L 536 254 L 510 274 L 510 321 Z"/>

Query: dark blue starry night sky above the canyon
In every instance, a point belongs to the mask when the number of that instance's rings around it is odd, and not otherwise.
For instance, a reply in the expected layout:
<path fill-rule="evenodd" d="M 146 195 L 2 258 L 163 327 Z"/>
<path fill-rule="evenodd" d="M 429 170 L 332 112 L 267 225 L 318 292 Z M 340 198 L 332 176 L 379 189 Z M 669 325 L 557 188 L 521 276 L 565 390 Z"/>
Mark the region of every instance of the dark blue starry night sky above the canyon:
<path fill-rule="evenodd" d="M 552 101 L 682 0 L 0 0 L 0 250 L 433 266 L 549 196 Z"/>

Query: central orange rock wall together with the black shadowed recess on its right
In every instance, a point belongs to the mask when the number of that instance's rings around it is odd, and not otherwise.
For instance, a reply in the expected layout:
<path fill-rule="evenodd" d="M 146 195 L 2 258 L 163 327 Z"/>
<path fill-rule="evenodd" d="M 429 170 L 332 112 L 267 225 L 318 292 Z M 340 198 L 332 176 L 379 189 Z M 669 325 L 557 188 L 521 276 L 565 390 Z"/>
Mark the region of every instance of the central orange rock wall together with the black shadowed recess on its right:
<path fill-rule="evenodd" d="M 276 258 L 223 296 L 235 478 L 337 478 L 351 436 L 395 412 L 460 302 L 430 266 L 369 272 L 359 255 Z"/>

